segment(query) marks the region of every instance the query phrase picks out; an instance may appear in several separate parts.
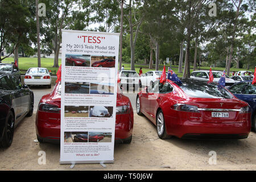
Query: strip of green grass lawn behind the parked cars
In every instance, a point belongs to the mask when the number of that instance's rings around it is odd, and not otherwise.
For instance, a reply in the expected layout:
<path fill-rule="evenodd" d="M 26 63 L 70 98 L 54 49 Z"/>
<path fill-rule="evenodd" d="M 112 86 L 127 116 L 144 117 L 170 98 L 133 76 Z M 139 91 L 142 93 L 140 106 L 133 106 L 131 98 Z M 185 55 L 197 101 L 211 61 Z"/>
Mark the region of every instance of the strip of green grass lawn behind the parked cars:
<path fill-rule="evenodd" d="M 41 67 L 43 68 L 47 68 L 48 70 L 51 70 L 54 74 L 54 71 L 56 71 L 55 73 L 57 73 L 58 68 L 53 68 L 53 59 L 52 58 L 41 58 Z M 14 62 L 14 58 L 13 57 L 7 57 L 6 59 L 4 59 L 2 61 L 2 63 L 11 63 Z M 61 59 L 59 59 L 59 65 L 61 65 Z M 130 70 L 130 63 L 123 63 L 122 65 L 125 66 L 126 70 Z M 163 70 L 163 66 L 164 65 L 159 65 L 159 71 Z M 170 65 L 166 65 L 166 72 L 168 71 L 168 67 Z M 38 67 L 38 59 L 37 57 L 19 57 L 19 69 L 21 70 L 27 70 L 28 68 L 31 67 Z M 142 67 L 142 72 L 146 73 L 147 71 L 151 71 L 151 70 L 155 70 L 155 65 L 153 65 L 153 69 L 148 69 L 148 65 L 143 65 L 143 64 L 135 64 L 135 71 L 137 73 L 139 73 L 139 68 Z M 177 76 L 182 77 L 183 74 L 182 73 L 178 73 L 178 66 L 177 65 L 172 65 L 172 69 L 174 70 L 174 72 L 177 74 Z M 210 67 L 201 67 L 201 69 L 207 69 L 209 70 Z M 224 71 L 225 68 L 212 68 L 212 70 L 215 71 Z M 233 71 L 240 71 L 240 70 L 245 70 L 243 68 L 241 69 L 237 69 L 237 68 L 231 68 L 230 69 L 230 75 Z M 191 72 L 193 71 L 193 67 L 191 67 Z M 254 73 L 254 69 L 249 69 L 249 71 Z M 22 73 L 26 73 L 26 71 L 22 71 Z"/>

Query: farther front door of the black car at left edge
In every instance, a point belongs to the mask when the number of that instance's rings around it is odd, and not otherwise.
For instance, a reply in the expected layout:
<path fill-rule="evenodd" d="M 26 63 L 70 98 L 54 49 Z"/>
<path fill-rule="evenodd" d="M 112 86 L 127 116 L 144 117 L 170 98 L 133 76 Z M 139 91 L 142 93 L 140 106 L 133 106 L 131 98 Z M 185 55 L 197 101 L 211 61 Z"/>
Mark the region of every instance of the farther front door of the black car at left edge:
<path fill-rule="evenodd" d="M 13 82 L 15 90 L 19 90 L 21 104 L 20 104 L 20 111 L 22 115 L 26 114 L 28 109 L 30 108 L 30 91 L 26 88 L 23 88 L 22 83 L 15 77 L 9 76 L 10 80 Z"/>

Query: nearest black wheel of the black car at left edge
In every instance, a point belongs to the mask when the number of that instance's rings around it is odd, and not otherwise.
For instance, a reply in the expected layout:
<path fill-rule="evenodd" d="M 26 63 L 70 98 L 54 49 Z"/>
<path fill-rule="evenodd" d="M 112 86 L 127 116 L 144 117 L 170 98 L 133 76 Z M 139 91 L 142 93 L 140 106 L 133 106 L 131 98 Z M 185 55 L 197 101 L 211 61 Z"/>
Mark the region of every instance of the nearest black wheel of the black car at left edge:
<path fill-rule="evenodd" d="M 14 135 L 14 114 L 12 111 L 6 117 L 5 130 L 3 131 L 3 138 L 0 143 L 1 147 L 7 148 L 11 146 Z"/>

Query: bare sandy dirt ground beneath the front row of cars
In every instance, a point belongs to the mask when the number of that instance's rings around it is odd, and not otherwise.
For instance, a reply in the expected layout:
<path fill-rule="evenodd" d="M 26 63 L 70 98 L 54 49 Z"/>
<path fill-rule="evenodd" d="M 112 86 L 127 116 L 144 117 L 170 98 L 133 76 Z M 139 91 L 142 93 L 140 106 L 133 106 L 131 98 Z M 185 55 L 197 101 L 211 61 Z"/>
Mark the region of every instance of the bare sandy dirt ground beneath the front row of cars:
<path fill-rule="evenodd" d="M 134 114 L 131 144 L 115 144 L 114 163 L 59 164 L 60 145 L 38 143 L 35 113 L 15 129 L 13 144 L 0 149 L 0 170 L 255 170 L 256 133 L 241 140 L 161 140 L 155 126 Z M 46 164 L 40 165 L 40 152 L 46 152 Z M 210 151 L 216 152 L 216 164 L 209 164 Z M 212 161 L 212 160 L 211 160 Z"/>

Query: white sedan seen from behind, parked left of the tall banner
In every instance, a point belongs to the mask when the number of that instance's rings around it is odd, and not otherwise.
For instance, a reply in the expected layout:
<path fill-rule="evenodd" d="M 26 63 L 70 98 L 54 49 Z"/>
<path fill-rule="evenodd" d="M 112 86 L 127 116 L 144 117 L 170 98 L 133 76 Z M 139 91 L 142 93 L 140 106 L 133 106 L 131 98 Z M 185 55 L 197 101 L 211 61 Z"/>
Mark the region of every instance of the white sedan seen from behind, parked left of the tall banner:
<path fill-rule="evenodd" d="M 28 86 L 47 85 L 48 88 L 51 88 L 51 82 L 51 73 L 47 68 L 29 68 L 24 77 L 24 84 Z"/>

